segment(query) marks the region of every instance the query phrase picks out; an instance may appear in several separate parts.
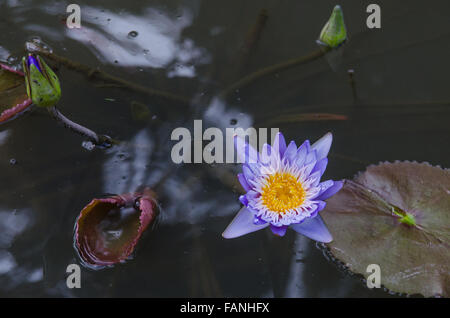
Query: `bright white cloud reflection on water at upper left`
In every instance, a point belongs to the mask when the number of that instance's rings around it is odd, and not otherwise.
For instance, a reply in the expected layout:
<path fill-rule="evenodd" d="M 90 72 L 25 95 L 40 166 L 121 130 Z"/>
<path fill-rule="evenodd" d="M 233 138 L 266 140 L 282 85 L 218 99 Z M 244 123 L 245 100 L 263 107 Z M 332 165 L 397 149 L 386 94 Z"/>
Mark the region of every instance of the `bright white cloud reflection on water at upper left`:
<path fill-rule="evenodd" d="M 137 16 L 83 7 L 82 28 L 65 32 L 69 38 L 85 44 L 104 63 L 166 67 L 169 77 L 194 77 L 195 65 L 208 63 L 210 57 L 192 39 L 182 38 L 183 30 L 192 21 L 193 15 L 186 8 L 181 15 L 171 18 L 151 8 Z"/>

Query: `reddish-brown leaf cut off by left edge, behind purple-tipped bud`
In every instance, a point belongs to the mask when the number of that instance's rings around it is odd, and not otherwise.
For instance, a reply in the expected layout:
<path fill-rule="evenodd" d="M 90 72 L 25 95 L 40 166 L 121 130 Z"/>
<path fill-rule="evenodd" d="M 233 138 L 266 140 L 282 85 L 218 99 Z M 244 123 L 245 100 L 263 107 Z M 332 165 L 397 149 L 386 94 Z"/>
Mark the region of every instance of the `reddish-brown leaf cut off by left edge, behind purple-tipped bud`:
<path fill-rule="evenodd" d="M 0 63 L 0 124 L 22 113 L 30 105 L 23 73 Z"/>

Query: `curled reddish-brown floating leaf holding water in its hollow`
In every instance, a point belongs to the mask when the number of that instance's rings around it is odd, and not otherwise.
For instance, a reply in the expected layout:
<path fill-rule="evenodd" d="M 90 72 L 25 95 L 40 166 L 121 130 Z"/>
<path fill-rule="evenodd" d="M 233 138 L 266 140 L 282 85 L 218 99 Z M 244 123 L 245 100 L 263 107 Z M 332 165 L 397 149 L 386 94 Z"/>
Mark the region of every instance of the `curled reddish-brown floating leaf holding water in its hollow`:
<path fill-rule="evenodd" d="M 126 260 L 142 233 L 157 216 L 154 193 L 93 199 L 80 213 L 76 247 L 88 266 L 104 267 Z"/>

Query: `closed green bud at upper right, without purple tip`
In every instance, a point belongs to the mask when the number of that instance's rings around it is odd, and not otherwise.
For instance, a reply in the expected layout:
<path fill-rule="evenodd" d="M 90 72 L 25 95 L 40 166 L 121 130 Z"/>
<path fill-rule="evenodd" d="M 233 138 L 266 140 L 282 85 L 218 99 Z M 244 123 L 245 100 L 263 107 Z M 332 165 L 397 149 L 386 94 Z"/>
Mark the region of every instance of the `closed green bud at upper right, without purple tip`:
<path fill-rule="evenodd" d="M 336 48 L 347 40 L 347 28 L 344 22 L 344 12 L 340 5 L 334 7 L 331 17 L 320 32 L 319 45 Z"/>

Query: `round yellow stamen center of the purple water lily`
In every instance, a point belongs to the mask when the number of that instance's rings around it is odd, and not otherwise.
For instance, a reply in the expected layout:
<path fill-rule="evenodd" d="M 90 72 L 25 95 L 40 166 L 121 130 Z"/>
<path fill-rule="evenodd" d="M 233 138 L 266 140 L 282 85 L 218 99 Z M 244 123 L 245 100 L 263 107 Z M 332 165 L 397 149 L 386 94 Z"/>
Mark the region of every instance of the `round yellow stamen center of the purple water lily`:
<path fill-rule="evenodd" d="M 302 184 L 286 172 L 270 175 L 261 193 L 264 205 L 277 213 L 285 213 L 300 206 L 305 201 L 305 196 Z"/>

